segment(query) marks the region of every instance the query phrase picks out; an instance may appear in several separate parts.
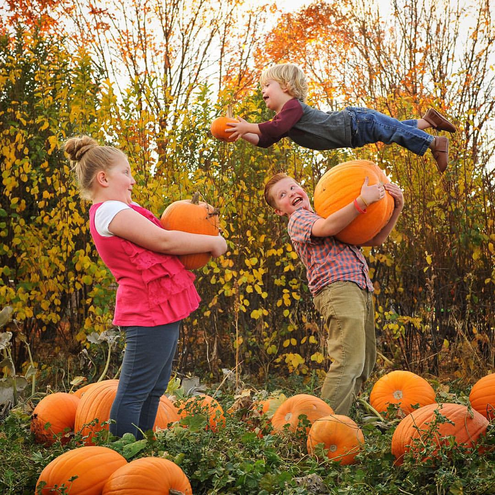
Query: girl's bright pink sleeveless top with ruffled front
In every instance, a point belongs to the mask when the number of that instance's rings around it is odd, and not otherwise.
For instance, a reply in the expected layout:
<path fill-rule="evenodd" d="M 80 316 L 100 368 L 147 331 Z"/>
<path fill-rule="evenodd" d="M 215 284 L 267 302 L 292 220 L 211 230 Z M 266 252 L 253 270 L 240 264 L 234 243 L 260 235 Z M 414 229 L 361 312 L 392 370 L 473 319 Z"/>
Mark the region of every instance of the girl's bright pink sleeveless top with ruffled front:
<path fill-rule="evenodd" d="M 95 214 L 102 203 L 90 208 L 90 231 L 98 254 L 118 284 L 113 324 L 119 326 L 165 325 L 185 318 L 201 300 L 195 276 L 171 254 L 150 251 L 118 236 L 100 236 Z M 129 205 L 161 227 L 146 208 Z"/>

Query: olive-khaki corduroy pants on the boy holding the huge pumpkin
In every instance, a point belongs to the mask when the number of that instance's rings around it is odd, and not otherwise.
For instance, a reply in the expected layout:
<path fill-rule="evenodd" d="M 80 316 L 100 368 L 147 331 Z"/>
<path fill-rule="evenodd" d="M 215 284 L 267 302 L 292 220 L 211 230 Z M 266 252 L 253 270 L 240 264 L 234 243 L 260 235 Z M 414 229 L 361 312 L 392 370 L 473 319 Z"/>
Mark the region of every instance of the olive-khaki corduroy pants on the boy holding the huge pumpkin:
<path fill-rule="evenodd" d="M 333 282 L 314 297 L 314 305 L 325 319 L 332 359 L 321 396 L 330 401 L 336 414 L 348 415 L 375 366 L 373 295 L 353 282 Z"/>

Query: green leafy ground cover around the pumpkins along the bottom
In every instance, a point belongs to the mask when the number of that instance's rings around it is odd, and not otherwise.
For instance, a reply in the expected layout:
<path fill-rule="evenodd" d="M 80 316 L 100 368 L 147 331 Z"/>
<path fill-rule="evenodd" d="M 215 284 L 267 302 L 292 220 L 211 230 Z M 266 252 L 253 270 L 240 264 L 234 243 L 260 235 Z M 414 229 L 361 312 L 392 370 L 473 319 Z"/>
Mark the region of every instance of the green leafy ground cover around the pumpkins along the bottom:
<path fill-rule="evenodd" d="M 285 381 L 287 396 L 311 393 L 302 382 Z M 280 387 L 280 383 L 272 384 Z M 220 391 L 222 392 L 222 391 Z M 232 392 L 217 397 L 227 410 L 234 402 Z M 394 465 L 392 435 L 397 420 L 373 421 L 362 405 L 350 414 L 360 425 L 365 444 L 357 463 L 341 466 L 333 461 L 318 462 L 306 452 L 305 433 L 273 434 L 264 428 L 266 418 L 249 422 L 247 408 L 227 415 L 225 428 L 205 430 L 207 418 L 199 414 L 187 428 L 179 425 L 149 433 L 136 441 L 100 435 L 99 445 L 120 452 L 128 460 L 142 456 L 163 456 L 178 464 L 188 476 L 195 495 L 404 495 L 404 494 L 495 494 L 495 426 L 484 439 L 486 451 L 465 451 L 455 445 L 441 449 L 435 461 L 418 461 L 406 455 L 402 466 Z M 80 446 L 76 435 L 67 445 L 51 447 L 34 443 L 30 417 L 18 407 L 0 423 L 0 493 L 33 494 L 42 469 L 57 455 Z"/>

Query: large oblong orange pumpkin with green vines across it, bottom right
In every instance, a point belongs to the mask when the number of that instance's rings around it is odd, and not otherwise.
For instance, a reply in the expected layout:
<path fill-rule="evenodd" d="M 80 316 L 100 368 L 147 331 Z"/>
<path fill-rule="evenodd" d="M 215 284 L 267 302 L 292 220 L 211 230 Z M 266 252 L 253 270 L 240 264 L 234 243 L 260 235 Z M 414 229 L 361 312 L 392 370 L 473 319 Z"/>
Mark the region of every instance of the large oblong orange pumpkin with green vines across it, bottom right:
<path fill-rule="evenodd" d="M 438 414 L 445 416 L 448 422 L 437 421 Z M 485 417 L 477 411 L 469 411 L 465 405 L 425 405 L 412 411 L 397 425 L 392 436 L 392 453 L 396 457 L 396 464 L 400 465 L 406 452 L 418 452 L 424 445 L 446 445 L 445 437 L 449 436 L 455 437 L 457 445 L 473 448 L 480 435 L 486 433 L 487 426 L 488 420 Z M 433 456 L 435 451 L 433 450 Z"/>

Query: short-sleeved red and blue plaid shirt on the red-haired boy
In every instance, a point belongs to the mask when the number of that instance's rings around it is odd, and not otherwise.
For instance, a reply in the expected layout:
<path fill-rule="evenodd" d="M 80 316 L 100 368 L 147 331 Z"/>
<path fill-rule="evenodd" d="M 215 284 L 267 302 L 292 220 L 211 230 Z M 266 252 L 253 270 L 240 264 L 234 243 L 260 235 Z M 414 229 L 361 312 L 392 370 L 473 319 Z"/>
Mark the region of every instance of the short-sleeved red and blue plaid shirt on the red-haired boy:
<path fill-rule="evenodd" d="M 359 247 L 341 243 L 335 237 L 311 237 L 318 218 L 321 217 L 316 213 L 299 208 L 287 226 L 294 249 L 306 267 L 311 294 L 337 281 L 354 282 L 372 292 L 368 264 Z"/>

